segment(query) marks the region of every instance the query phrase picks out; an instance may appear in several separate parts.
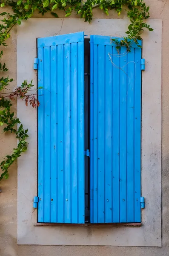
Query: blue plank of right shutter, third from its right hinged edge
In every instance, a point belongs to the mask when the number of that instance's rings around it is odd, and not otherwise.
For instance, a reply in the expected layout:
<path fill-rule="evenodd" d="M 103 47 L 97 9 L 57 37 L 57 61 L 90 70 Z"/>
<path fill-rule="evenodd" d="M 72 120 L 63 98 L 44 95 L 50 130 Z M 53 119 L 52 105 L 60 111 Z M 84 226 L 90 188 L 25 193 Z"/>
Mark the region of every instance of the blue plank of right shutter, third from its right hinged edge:
<path fill-rule="evenodd" d="M 127 221 L 127 52 L 120 51 L 120 222 Z"/>

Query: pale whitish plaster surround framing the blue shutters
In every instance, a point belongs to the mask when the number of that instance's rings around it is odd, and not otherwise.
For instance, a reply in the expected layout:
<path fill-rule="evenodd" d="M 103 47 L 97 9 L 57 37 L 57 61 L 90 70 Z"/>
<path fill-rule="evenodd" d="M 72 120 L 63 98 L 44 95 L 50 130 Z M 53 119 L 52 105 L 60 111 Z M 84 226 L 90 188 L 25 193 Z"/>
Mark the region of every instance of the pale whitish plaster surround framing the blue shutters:
<path fill-rule="evenodd" d="M 40 37 L 84 31 L 90 35 L 124 36 L 129 20 L 31 18 L 17 26 L 17 85 L 24 79 L 37 86 L 33 70 L 36 40 Z M 17 101 L 17 115 L 29 130 L 28 151 L 18 159 L 17 243 L 44 245 L 161 246 L 161 42 L 162 21 L 149 20 L 153 32 L 143 34 L 142 73 L 142 225 L 36 226 L 37 111 Z"/>

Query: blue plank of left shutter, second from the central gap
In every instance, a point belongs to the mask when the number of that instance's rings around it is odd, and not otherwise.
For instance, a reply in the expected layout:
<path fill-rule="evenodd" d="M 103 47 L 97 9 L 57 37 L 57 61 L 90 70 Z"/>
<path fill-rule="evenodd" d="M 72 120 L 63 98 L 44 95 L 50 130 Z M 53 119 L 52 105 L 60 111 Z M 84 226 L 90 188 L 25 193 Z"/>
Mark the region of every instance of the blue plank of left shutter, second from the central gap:
<path fill-rule="evenodd" d="M 77 43 L 71 44 L 71 215 L 72 223 L 78 222 L 77 192 Z"/>

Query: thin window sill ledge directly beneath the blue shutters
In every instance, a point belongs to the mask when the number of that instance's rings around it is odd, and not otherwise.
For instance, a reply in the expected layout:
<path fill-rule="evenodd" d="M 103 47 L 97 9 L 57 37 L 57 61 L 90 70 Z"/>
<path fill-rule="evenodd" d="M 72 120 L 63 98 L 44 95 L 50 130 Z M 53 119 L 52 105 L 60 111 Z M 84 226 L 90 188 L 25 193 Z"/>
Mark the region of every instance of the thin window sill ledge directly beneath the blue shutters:
<path fill-rule="evenodd" d="M 113 226 L 113 227 L 119 227 L 119 226 L 134 226 L 134 227 L 140 227 L 142 223 L 86 223 L 86 224 L 73 224 L 73 223 L 34 223 L 35 227 L 39 226 Z"/>

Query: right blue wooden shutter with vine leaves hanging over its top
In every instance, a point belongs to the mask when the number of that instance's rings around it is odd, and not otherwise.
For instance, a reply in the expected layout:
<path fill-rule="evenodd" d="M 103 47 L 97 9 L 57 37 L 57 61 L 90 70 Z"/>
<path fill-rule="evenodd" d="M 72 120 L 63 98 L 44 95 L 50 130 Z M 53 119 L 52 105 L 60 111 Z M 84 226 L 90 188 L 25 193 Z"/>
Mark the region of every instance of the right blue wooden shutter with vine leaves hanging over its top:
<path fill-rule="evenodd" d="M 141 221 L 141 49 L 115 47 L 91 36 L 91 223 Z"/>

